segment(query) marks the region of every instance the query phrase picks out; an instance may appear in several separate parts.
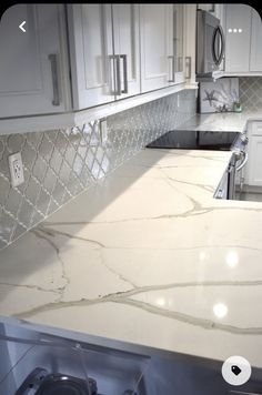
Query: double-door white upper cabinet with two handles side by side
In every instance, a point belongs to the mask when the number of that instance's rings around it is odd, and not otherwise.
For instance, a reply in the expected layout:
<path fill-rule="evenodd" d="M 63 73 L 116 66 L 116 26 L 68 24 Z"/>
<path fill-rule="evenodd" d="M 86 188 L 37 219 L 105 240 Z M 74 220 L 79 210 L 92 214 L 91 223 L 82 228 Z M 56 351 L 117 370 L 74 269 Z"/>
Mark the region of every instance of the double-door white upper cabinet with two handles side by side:
<path fill-rule="evenodd" d="M 70 4 L 75 110 L 140 93 L 138 4 Z"/>

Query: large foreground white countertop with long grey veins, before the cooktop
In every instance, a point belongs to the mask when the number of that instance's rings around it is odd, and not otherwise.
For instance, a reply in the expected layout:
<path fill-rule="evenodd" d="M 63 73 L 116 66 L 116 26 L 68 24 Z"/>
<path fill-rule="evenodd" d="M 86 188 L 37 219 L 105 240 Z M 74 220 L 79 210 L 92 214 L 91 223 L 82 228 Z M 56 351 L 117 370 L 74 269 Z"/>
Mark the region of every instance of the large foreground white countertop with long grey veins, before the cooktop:
<path fill-rule="evenodd" d="M 145 149 L 0 252 L 0 313 L 262 367 L 262 204 L 213 199 L 230 152 Z"/>

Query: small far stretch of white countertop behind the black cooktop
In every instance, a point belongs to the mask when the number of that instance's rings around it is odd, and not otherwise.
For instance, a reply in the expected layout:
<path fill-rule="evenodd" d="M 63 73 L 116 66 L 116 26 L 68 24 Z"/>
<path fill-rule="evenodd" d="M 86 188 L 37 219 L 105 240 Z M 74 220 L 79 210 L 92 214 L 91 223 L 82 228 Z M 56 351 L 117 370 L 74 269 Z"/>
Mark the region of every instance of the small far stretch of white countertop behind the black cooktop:
<path fill-rule="evenodd" d="M 195 114 L 179 126 L 179 130 L 244 132 L 248 122 L 262 121 L 262 112 L 215 112 Z"/>

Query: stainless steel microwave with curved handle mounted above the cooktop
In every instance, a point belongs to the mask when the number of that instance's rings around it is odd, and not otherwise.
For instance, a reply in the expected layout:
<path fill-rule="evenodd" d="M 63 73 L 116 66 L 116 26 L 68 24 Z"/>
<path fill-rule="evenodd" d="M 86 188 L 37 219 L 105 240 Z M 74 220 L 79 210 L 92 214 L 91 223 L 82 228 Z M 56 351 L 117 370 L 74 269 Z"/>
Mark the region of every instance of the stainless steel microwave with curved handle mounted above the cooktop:
<path fill-rule="evenodd" d="M 196 11 L 196 78 L 212 77 L 224 64 L 224 34 L 220 20 L 210 12 Z"/>

